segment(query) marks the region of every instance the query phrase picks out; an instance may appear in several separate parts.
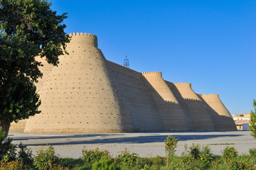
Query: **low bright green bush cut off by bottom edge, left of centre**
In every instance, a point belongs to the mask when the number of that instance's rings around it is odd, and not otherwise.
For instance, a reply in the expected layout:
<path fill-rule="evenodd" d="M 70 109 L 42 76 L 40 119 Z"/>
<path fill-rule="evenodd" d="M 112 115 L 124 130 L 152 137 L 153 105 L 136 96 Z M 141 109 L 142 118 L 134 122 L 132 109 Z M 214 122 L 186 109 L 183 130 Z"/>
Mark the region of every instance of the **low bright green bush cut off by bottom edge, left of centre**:
<path fill-rule="evenodd" d="M 119 170 L 120 167 L 112 162 L 110 157 L 102 157 L 99 162 L 92 164 L 93 170 Z"/>

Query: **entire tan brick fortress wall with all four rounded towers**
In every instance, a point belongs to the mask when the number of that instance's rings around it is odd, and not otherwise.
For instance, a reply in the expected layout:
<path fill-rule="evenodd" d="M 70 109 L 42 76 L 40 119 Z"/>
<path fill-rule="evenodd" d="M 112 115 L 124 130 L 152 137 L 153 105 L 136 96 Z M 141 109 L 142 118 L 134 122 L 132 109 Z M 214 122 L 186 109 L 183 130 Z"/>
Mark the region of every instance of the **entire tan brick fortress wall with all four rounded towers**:
<path fill-rule="evenodd" d="M 134 132 L 236 130 L 218 95 L 164 81 L 105 60 L 97 36 L 73 33 L 70 55 L 41 67 L 41 114 L 11 123 L 10 132 Z"/>

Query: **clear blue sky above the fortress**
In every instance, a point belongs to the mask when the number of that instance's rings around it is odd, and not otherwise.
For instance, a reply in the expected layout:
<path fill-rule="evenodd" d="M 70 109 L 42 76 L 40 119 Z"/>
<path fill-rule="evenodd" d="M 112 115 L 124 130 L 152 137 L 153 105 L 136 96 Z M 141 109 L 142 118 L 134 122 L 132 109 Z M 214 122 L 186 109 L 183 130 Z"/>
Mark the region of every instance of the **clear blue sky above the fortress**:
<path fill-rule="evenodd" d="M 248 113 L 256 99 L 256 1 L 67 1 L 66 33 L 98 37 L 107 60 L 138 72 L 163 72 L 191 82 L 198 94 L 220 94 L 233 113 Z"/>

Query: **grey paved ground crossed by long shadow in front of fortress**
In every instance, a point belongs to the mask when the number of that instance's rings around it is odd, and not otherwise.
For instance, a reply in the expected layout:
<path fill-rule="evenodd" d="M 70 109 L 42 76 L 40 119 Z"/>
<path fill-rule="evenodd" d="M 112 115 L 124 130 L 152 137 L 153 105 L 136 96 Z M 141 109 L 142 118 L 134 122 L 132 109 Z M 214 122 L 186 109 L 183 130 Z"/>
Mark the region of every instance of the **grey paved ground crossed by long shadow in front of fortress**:
<path fill-rule="evenodd" d="M 249 148 L 256 147 L 256 139 L 248 131 L 234 132 L 137 132 L 108 134 L 46 134 L 46 133 L 10 133 L 14 144 L 28 146 L 33 154 L 40 145 L 53 145 L 60 157 L 78 158 L 82 149 L 107 149 L 112 156 L 117 156 L 124 148 L 139 154 L 140 157 L 155 155 L 165 156 L 164 140 L 174 135 L 179 138 L 176 154 L 184 151 L 184 145 L 209 145 L 213 154 L 222 154 L 225 146 L 238 149 L 238 153 L 248 153 Z"/>

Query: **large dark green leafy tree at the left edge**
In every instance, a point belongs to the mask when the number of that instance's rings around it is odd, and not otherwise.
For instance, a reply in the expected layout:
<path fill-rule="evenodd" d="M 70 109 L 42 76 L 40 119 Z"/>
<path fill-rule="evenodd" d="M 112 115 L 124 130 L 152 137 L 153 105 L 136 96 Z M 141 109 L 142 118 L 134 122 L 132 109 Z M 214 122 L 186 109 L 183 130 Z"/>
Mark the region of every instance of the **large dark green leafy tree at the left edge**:
<path fill-rule="evenodd" d="M 67 13 L 57 15 L 46 0 L 0 0 L 0 126 L 40 113 L 35 82 L 43 74 L 36 57 L 58 65 L 65 44 Z"/>

